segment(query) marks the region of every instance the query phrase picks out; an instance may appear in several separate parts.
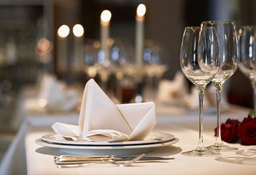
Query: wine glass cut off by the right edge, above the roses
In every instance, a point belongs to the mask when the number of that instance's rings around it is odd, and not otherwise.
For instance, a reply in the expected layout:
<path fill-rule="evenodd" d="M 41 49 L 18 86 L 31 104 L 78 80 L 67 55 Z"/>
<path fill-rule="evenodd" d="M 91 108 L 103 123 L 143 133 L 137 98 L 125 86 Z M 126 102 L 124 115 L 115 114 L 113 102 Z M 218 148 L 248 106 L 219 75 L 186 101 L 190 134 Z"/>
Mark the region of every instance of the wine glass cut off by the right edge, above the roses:
<path fill-rule="evenodd" d="M 242 26 L 238 30 L 241 63 L 239 69 L 248 77 L 253 87 L 254 116 L 256 116 L 256 26 Z"/>

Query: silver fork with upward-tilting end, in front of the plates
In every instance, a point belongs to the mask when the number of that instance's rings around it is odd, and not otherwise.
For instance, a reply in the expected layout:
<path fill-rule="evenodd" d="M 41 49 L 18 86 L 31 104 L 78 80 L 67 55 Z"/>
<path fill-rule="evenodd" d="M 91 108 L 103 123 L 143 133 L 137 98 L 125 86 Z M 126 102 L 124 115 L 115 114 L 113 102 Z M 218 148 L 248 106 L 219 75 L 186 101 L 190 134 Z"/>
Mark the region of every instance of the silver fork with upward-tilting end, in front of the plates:
<path fill-rule="evenodd" d="M 108 162 L 88 162 L 88 163 L 84 163 L 84 164 L 57 164 L 57 168 L 77 168 L 77 167 L 83 167 L 83 166 L 90 166 L 90 165 L 94 165 L 94 164 L 104 164 L 104 163 L 110 163 L 110 164 L 114 164 L 115 166 L 119 166 L 119 167 L 125 167 L 125 166 L 131 166 L 131 164 L 137 162 L 138 160 L 140 160 L 144 155 L 146 155 L 145 153 L 141 153 L 140 155 L 138 155 L 137 157 L 133 158 L 132 160 L 129 161 L 125 161 L 125 162 L 117 162 L 113 159 L 110 159 Z"/>

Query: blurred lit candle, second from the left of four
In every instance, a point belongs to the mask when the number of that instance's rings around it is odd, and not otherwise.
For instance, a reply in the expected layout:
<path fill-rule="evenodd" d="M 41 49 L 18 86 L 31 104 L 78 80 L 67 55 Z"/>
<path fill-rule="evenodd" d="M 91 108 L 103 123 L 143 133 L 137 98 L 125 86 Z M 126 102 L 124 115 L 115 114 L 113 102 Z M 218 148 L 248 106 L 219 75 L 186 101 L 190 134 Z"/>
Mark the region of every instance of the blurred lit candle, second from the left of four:
<path fill-rule="evenodd" d="M 81 24 L 75 24 L 73 26 L 73 35 L 74 37 L 74 48 L 73 48 L 73 56 L 74 63 L 79 65 L 83 61 L 84 52 L 83 52 L 83 40 L 84 40 L 84 28 Z"/>

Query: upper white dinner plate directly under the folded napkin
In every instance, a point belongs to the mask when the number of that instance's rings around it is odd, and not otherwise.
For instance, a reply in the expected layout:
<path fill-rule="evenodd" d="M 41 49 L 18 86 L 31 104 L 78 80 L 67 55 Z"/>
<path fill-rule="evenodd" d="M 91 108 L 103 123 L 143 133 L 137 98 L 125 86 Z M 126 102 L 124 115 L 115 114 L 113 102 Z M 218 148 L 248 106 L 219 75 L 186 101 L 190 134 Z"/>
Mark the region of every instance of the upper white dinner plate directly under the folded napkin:
<path fill-rule="evenodd" d="M 42 141 L 48 143 L 57 143 L 61 145 L 79 145 L 79 146 L 123 146 L 123 145 L 146 145 L 152 143 L 163 143 L 174 139 L 174 135 L 169 133 L 162 133 L 158 131 L 152 131 L 142 141 L 119 141 L 119 142 L 92 142 L 92 141 L 73 141 L 67 140 L 56 133 L 44 135 L 41 137 Z"/>

